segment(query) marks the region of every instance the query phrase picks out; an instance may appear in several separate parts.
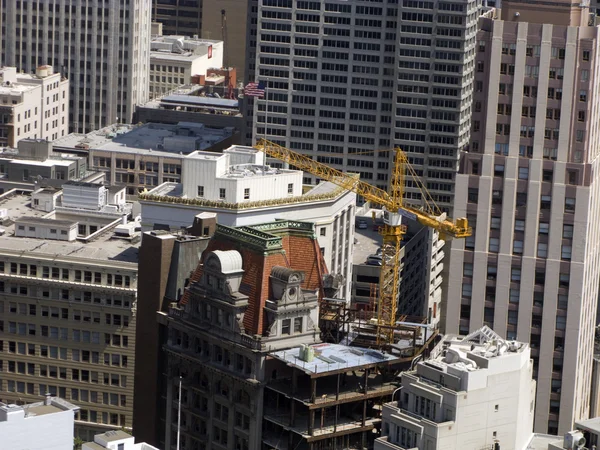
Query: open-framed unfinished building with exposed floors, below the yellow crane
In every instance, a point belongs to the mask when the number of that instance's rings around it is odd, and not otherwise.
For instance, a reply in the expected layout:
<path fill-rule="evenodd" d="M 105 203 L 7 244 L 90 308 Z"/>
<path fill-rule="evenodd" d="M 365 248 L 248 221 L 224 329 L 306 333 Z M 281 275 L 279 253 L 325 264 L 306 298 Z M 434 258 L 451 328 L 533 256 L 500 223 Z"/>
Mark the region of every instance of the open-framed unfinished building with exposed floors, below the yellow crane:
<path fill-rule="evenodd" d="M 270 354 L 264 390 L 263 448 L 372 448 L 382 405 L 411 361 L 340 344 Z"/>

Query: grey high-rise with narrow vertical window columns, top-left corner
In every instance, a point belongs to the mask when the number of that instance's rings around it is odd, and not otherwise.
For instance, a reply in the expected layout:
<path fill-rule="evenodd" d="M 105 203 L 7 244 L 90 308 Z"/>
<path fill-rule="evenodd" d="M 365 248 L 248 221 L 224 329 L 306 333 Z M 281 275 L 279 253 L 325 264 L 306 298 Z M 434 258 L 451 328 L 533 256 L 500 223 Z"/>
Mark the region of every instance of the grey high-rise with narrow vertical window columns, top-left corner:
<path fill-rule="evenodd" d="M 70 82 L 71 129 L 129 123 L 148 100 L 150 0 L 22 0 L 0 8 L 0 62 L 51 64 Z"/>

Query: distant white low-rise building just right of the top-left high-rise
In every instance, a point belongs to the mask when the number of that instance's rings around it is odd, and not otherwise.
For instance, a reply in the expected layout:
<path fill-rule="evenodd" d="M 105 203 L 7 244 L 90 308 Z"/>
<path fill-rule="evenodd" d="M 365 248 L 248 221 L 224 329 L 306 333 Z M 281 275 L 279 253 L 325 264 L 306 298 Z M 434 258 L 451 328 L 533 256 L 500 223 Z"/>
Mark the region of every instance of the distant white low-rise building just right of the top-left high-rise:
<path fill-rule="evenodd" d="M 150 51 L 150 98 L 188 84 L 194 75 L 223 66 L 223 42 L 184 36 L 156 36 Z"/>

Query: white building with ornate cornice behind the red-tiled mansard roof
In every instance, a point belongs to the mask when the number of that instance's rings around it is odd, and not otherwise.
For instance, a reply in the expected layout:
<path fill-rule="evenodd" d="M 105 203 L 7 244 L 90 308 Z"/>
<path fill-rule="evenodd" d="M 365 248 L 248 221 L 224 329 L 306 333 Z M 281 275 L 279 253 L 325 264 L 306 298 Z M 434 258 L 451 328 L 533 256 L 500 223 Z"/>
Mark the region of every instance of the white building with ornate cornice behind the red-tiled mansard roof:
<path fill-rule="evenodd" d="M 142 229 L 177 230 L 200 212 L 217 213 L 230 227 L 279 219 L 313 222 L 331 273 L 352 277 L 356 195 L 332 183 L 302 191 L 302 172 L 265 164 L 262 152 L 232 146 L 222 154 L 194 152 L 182 159 L 181 183 L 163 183 L 140 194 Z"/>

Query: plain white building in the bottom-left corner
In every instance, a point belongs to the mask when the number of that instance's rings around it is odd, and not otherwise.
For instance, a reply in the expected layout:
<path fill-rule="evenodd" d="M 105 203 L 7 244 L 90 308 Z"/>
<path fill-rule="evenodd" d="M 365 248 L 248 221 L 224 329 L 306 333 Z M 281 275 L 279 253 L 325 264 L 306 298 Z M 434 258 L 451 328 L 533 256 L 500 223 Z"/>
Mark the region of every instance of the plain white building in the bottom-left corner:
<path fill-rule="evenodd" d="M 73 448 L 79 407 L 46 395 L 42 402 L 18 406 L 0 403 L 0 450 Z"/>

